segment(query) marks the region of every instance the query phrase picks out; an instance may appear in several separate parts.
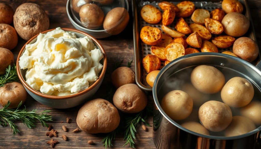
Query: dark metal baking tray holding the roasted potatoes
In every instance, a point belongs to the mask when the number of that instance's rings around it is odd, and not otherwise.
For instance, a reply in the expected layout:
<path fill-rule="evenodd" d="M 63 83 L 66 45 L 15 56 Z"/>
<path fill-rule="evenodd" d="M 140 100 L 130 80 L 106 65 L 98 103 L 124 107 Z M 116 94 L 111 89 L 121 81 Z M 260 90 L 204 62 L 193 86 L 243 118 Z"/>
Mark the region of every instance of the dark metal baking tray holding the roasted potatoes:
<path fill-rule="evenodd" d="M 159 10 L 161 10 L 158 7 L 158 2 L 161 1 L 152 1 L 152 0 L 132 0 L 132 12 L 133 12 L 133 41 L 134 41 L 134 62 L 135 62 L 135 80 L 137 85 L 145 90 L 145 91 L 152 91 L 152 87 L 150 87 L 147 82 L 146 82 L 146 76 L 147 76 L 147 72 L 144 70 L 143 65 L 142 65 L 142 59 L 147 55 L 147 54 L 151 54 L 150 52 L 150 45 L 146 45 L 145 43 L 143 43 L 140 39 L 139 33 L 140 30 L 143 26 L 153 26 L 153 27 L 157 27 L 159 29 L 161 29 L 161 21 L 158 24 L 150 24 L 145 22 L 141 16 L 140 16 L 140 10 L 144 5 L 147 4 L 151 4 L 153 6 L 155 6 L 156 8 L 158 8 Z M 180 2 L 179 1 L 169 1 L 172 2 L 174 4 L 177 4 Z M 195 4 L 195 9 L 199 9 L 199 8 L 203 8 L 209 11 L 212 11 L 213 9 L 216 8 L 220 8 L 221 7 L 221 2 L 220 0 L 207 0 L 207 1 L 196 1 L 196 0 L 192 0 L 192 2 Z M 253 27 L 253 22 L 250 16 L 250 10 L 247 4 L 247 0 L 239 0 L 239 2 L 241 2 L 241 4 L 244 7 L 244 11 L 242 14 L 244 14 L 245 16 L 248 17 L 248 19 L 250 20 L 250 27 L 248 29 L 248 32 L 244 35 L 244 37 L 250 37 L 252 38 L 254 41 L 257 41 L 256 39 L 256 34 L 254 32 L 254 27 Z M 163 11 L 161 10 L 161 12 L 163 13 Z M 186 17 L 184 18 L 185 21 L 188 24 L 194 23 L 190 17 Z M 173 23 L 171 25 L 169 25 L 168 27 L 171 27 L 174 29 L 174 26 L 176 24 L 176 18 L 173 21 Z M 224 34 L 224 33 L 222 33 Z M 222 35 L 221 34 L 221 35 Z M 216 37 L 217 35 L 212 34 L 212 37 Z M 186 35 L 187 37 L 187 35 Z M 188 46 L 189 47 L 189 46 Z M 198 49 L 198 48 L 197 48 Z M 232 52 L 232 46 L 228 47 L 226 49 L 218 49 L 219 52 L 223 52 L 223 51 L 231 51 Z M 256 65 L 259 61 L 260 61 L 260 52 L 259 52 L 259 56 L 257 57 L 257 59 L 252 62 L 254 65 Z M 163 63 L 162 63 L 162 67 L 163 67 Z M 161 68 L 162 68 L 161 67 Z"/>

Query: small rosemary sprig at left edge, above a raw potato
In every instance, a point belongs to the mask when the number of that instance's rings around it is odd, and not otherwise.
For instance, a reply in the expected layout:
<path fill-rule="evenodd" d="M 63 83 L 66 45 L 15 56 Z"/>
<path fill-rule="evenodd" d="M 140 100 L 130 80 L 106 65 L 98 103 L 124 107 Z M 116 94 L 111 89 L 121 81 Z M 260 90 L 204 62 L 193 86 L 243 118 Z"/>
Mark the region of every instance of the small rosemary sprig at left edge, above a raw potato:
<path fill-rule="evenodd" d="M 4 75 L 0 75 L 0 87 L 8 82 L 16 82 L 19 80 L 15 64 L 12 67 L 9 65 L 8 68 L 5 69 L 5 72 Z"/>

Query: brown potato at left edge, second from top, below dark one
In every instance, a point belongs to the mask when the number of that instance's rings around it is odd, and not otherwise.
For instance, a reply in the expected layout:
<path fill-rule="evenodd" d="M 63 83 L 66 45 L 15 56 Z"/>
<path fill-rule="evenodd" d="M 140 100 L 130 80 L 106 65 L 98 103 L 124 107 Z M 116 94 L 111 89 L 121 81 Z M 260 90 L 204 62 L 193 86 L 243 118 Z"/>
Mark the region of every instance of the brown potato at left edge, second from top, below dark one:
<path fill-rule="evenodd" d="M 0 24 L 0 47 L 12 50 L 17 45 L 15 29 L 8 24 Z"/>

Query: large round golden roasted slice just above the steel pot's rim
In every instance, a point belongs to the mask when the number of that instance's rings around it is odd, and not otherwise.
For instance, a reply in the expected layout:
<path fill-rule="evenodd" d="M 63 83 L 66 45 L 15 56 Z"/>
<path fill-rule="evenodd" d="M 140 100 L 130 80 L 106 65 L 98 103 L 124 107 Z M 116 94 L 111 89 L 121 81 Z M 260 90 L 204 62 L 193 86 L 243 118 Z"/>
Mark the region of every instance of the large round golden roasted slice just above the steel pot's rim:
<path fill-rule="evenodd" d="M 185 55 L 185 48 L 180 43 L 170 43 L 165 47 L 164 54 L 168 61 L 173 61 L 174 59 Z"/>

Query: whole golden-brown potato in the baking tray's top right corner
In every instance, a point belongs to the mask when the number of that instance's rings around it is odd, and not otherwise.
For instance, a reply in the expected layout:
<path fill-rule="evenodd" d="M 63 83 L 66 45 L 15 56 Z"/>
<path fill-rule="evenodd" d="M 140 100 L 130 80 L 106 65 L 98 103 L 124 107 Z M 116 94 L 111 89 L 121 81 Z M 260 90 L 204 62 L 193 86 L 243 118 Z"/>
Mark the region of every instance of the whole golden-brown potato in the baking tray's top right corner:
<path fill-rule="evenodd" d="M 238 0 L 223 0 L 222 9 L 228 14 L 232 12 L 242 13 L 244 8 Z"/>

